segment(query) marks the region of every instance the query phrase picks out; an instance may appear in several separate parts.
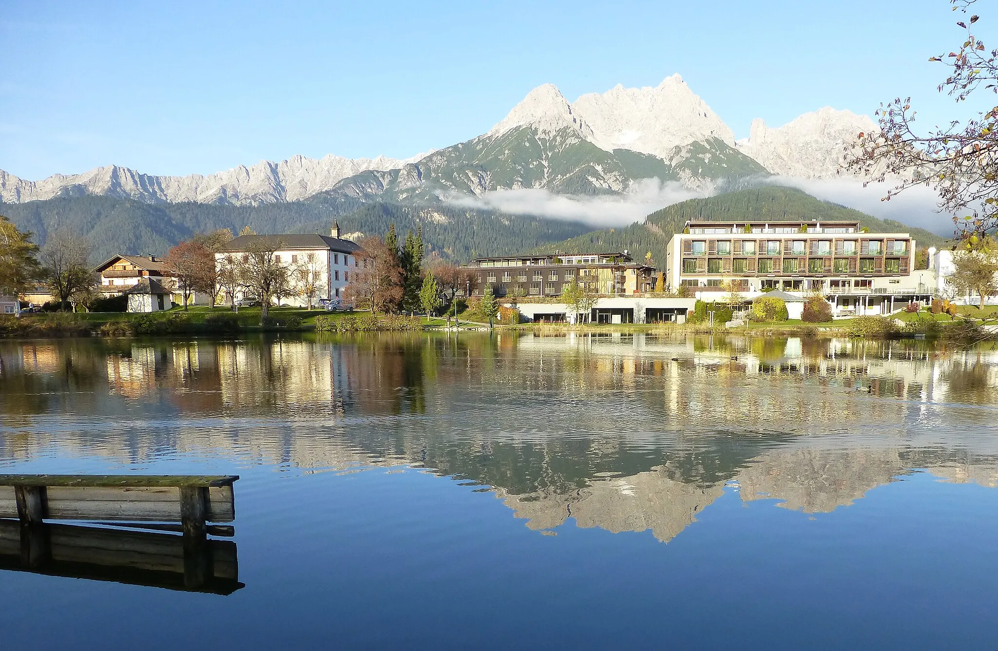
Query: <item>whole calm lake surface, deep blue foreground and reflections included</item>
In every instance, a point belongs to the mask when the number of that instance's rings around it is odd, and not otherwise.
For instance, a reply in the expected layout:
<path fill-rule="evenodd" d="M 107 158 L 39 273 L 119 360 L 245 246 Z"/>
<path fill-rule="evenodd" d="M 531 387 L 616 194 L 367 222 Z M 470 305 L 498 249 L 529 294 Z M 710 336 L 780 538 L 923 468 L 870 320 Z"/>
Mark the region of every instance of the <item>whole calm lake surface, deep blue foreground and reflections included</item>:
<path fill-rule="evenodd" d="M 998 649 L 991 345 L 384 334 L 0 359 L 0 473 L 239 474 L 245 583 L 3 570 L 3 648 Z"/>

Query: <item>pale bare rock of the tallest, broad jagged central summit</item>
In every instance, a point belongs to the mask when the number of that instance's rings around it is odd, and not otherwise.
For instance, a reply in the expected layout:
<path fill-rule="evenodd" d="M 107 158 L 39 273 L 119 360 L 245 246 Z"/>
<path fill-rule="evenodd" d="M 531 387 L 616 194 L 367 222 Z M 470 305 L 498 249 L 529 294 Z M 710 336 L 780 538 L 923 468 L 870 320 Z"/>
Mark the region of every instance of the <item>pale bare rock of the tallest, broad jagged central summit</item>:
<path fill-rule="evenodd" d="M 658 87 L 624 88 L 583 95 L 572 105 L 606 150 L 629 149 L 668 158 L 673 148 L 717 138 L 735 146 L 735 135 L 683 78 L 666 77 Z"/>

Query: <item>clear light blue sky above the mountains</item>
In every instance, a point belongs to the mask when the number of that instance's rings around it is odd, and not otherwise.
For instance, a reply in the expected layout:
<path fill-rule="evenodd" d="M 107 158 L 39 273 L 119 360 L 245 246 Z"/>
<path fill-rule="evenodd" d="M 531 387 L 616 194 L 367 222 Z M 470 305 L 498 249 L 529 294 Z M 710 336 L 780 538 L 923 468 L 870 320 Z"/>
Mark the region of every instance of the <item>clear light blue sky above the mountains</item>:
<path fill-rule="evenodd" d="M 404 158 L 484 133 L 543 83 L 572 101 L 676 72 L 738 138 L 897 95 L 935 124 L 955 109 L 926 59 L 961 38 L 946 0 L 4 7 L 0 169 L 29 180 Z"/>

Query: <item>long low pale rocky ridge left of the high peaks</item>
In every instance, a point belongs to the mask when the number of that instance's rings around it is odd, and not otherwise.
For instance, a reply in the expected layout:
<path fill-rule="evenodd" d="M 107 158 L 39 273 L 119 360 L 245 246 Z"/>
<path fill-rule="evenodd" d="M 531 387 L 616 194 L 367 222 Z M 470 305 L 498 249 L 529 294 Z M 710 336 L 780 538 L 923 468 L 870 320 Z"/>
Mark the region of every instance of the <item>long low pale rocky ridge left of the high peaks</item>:
<path fill-rule="evenodd" d="M 89 194 L 146 202 L 267 204 L 305 199 L 331 189 L 347 177 L 367 170 L 398 169 L 419 158 L 399 161 L 383 156 L 375 159 L 346 159 L 331 154 L 321 159 L 293 156 L 279 163 L 261 161 L 251 167 L 241 165 L 208 176 L 186 177 L 159 177 L 106 166 L 83 174 L 25 181 L 0 171 L 0 201 L 20 203 Z"/>

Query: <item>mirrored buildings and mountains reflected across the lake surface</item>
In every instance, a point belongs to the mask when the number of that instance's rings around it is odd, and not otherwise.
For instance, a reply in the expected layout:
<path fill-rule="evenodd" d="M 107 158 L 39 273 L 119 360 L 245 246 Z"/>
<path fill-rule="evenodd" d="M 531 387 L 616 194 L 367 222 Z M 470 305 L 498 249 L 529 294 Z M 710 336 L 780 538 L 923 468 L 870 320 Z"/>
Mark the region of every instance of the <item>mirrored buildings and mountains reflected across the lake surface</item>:
<path fill-rule="evenodd" d="M 5 342 L 0 358 L 7 467 L 414 464 L 489 487 L 533 529 L 663 541 L 726 486 L 819 513 L 915 469 L 998 480 L 990 345 L 382 334 Z"/>

